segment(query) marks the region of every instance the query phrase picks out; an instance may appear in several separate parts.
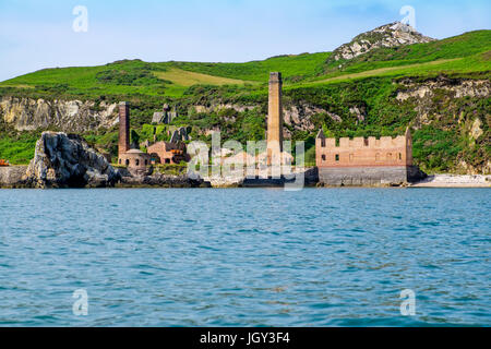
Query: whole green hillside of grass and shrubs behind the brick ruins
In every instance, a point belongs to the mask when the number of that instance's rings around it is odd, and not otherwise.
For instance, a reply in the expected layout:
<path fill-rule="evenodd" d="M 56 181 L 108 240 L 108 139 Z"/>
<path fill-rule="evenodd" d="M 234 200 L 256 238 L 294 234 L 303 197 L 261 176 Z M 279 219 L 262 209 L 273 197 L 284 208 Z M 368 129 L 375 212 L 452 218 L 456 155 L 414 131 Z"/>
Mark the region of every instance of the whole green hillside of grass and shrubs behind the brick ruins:
<path fill-rule="evenodd" d="M 489 81 L 491 31 L 478 31 L 429 44 L 374 49 L 352 60 L 334 61 L 331 52 L 280 56 L 247 63 L 161 62 L 123 60 L 101 67 L 47 69 L 0 83 L 0 96 L 59 99 L 130 100 L 132 125 L 140 140 L 152 140 L 151 118 L 164 101 L 177 106 L 173 125 L 191 128 L 193 139 L 209 141 L 205 131 L 223 130 L 224 139 L 240 142 L 264 137 L 267 79 L 280 71 L 285 80 L 285 105 L 308 104 L 326 110 L 310 117 L 314 130 L 335 136 L 395 135 L 408 124 L 415 128 L 415 159 L 428 171 L 456 171 L 458 164 L 479 167 L 490 160 L 490 98 L 453 99 L 436 89 L 424 100 L 399 103 L 402 80 L 430 84 L 446 76 Z M 227 109 L 189 112 L 193 105 L 232 103 L 255 105 L 238 112 Z M 350 109 L 364 110 L 362 120 Z M 421 108 L 428 120 L 421 121 Z M 342 121 L 334 121 L 336 115 Z M 469 137 L 471 125 L 481 122 L 482 133 Z M 294 140 L 307 141 L 313 160 L 314 131 L 287 125 Z M 0 157 L 23 163 L 33 152 L 34 133 L 0 130 Z M 154 130 L 154 131 L 152 131 Z M 165 134 L 160 133 L 157 136 Z M 7 133 L 8 132 L 8 133 Z M 94 145 L 116 152 L 116 129 L 89 132 Z M 29 153 L 31 152 L 31 153 Z"/>

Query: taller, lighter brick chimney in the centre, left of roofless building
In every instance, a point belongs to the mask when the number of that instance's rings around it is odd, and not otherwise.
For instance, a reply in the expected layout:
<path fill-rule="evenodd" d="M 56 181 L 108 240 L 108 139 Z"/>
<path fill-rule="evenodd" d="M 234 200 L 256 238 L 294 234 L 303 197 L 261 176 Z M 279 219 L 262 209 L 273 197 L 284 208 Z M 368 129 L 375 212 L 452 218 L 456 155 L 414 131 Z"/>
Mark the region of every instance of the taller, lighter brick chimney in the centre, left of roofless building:
<path fill-rule="evenodd" d="M 267 115 L 267 154 L 268 163 L 273 156 L 283 152 L 283 80 L 282 73 L 270 74 L 270 106 Z"/>

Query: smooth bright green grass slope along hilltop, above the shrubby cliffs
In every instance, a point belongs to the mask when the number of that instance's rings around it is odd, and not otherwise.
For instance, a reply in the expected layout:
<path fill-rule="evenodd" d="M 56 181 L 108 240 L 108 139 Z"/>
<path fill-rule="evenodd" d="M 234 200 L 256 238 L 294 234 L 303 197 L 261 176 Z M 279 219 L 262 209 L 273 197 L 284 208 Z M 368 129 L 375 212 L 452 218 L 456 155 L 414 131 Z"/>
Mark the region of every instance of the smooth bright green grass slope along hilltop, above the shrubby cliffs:
<path fill-rule="evenodd" d="M 16 94 L 96 98 L 106 96 L 181 97 L 192 85 L 254 85 L 280 71 L 287 86 L 367 76 L 471 73 L 490 70 L 491 31 L 466 33 L 429 44 L 380 48 L 352 60 L 331 52 L 279 56 L 246 63 L 123 60 L 99 67 L 45 69 L 0 83 Z M 0 92 L 1 93 L 1 92 Z"/>

